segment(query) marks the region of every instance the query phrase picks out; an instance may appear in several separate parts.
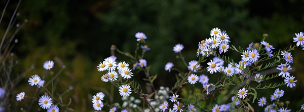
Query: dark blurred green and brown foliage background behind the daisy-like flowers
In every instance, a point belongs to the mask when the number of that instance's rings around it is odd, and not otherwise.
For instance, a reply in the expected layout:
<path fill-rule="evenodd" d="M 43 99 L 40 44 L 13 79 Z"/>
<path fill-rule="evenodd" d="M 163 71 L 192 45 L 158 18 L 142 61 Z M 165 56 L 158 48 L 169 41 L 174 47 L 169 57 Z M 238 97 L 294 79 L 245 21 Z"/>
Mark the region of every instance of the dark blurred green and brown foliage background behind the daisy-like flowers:
<path fill-rule="evenodd" d="M 0 1 L 1 12 L 6 3 L 7 1 Z M 55 67 L 52 71 L 55 73 L 61 69 L 62 65 L 66 66 L 56 80 L 56 92 L 62 93 L 72 86 L 73 91 L 66 95 L 67 102 L 68 97 L 72 98 L 71 108 L 77 111 L 93 110 L 90 99 L 92 95 L 99 91 L 110 91 L 110 83 L 100 80 L 104 73 L 98 72 L 96 66 L 104 58 L 110 56 L 111 45 L 116 45 L 122 51 L 134 53 L 136 32 L 144 32 L 147 35 L 145 44 L 151 50 L 146 52 L 144 58 L 151 66 L 150 73 L 161 74 L 155 85 L 171 87 L 175 81 L 173 77 L 177 72 L 168 73 L 164 70 L 164 65 L 169 61 L 174 62 L 176 68 L 187 71 L 183 63 L 176 60 L 176 54 L 172 50 L 174 45 L 181 43 L 185 46 L 182 54 L 186 61 L 196 60 L 198 59 L 196 57 L 198 42 L 209 38 L 212 28 L 219 27 L 229 34 L 232 45 L 243 48 L 251 42 L 259 43 L 262 34 L 267 33 L 269 36 L 265 41 L 278 51 L 289 47 L 290 44 L 295 45 L 292 42 L 294 33 L 303 31 L 303 4 L 303 0 L 22 1 L 18 9 L 20 16 L 17 21 L 23 22 L 27 19 L 28 22 L 16 36 L 18 44 L 13 49 L 19 61 L 16 73 L 21 73 L 31 65 L 34 65 L 35 69 L 27 74 L 21 84 L 17 85 L 15 93 L 20 91 L 29 93 L 35 89 L 27 84 L 32 74 L 39 74 L 46 80 L 50 80 L 50 75 L 43 69 L 43 63 L 54 60 Z M 9 3 L 4 20 L 0 24 L 1 35 L 4 34 L 16 5 L 17 1 Z M 240 54 L 236 52 L 225 53 L 225 55 L 231 56 L 234 60 L 241 59 Z M 304 102 L 301 92 L 304 89 L 302 69 L 304 52 L 296 48 L 292 55 L 294 63 L 291 74 L 298 80 L 297 86 L 292 89 L 281 88 L 285 90 L 282 100 L 289 100 L 290 107 L 296 110 Z M 129 61 L 126 56 L 118 53 L 116 56 L 118 61 Z M 202 65 L 206 66 L 205 63 Z M 210 82 L 215 82 L 217 78 L 212 77 L 219 75 L 208 74 L 208 76 L 211 79 Z M 135 79 L 142 78 L 139 76 Z M 278 79 L 278 82 L 281 81 L 283 78 Z M 271 92 L 260 90 L 258 97 L 265 95 L 270 101 L 270 95 L 274 90 Z M 120 102 L 117 89 L 113 91 L 113 94 L 116 95 L 114 102 Z M 219 100 L 217 103 L 230 101 L 228 98 L 226 101 Z M 11 101 L 12 110 L 26 108 L 24 102 Z M 32 105 L 32 107 L 38 106 L 35 103 Z M 108 108 L 104 108 L 103 110 L 107 111 Z"/>

